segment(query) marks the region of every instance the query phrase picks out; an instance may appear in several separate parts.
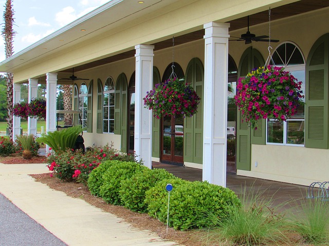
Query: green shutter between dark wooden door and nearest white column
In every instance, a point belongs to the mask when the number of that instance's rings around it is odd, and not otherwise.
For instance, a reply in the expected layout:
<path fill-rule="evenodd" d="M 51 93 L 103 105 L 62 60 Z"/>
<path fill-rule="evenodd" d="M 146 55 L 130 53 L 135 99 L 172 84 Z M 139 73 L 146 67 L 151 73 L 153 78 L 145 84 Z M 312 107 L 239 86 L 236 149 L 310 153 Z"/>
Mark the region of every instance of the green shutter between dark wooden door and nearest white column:
<path fill-rule="evenodd" d="M 184 161 L 202 164 L 204 67 L 198 58 L 193 58 L 186 71 L 186 82 L 193 86 L 200 104 L 197 113 L 184 120 Z"/>

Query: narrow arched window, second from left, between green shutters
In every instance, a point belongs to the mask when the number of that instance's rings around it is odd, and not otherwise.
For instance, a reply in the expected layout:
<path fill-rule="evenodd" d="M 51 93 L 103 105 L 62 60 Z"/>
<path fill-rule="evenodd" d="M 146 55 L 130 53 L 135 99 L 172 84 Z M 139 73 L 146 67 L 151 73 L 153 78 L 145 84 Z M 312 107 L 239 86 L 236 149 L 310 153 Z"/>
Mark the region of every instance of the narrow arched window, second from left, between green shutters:
<path fill-rule="evenodd" d="M 103 133 L 114 133 L 114 81 L 108 77 L 104 85 Z"/>

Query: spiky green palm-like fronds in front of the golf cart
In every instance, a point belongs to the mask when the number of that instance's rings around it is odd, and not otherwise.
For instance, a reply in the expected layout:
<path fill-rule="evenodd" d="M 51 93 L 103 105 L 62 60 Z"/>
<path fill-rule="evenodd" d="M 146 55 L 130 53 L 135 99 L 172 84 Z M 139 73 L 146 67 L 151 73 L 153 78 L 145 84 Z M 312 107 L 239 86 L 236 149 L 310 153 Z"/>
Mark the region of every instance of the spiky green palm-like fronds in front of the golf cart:
<path fill-rule="evenodd" d="M 65 151 L 74 147 L 77 137 L 81 132 L 81 126 L 74 126 L 62 131 L 43 133 L 36 141 L 44 142 L 55 152 Z"/>

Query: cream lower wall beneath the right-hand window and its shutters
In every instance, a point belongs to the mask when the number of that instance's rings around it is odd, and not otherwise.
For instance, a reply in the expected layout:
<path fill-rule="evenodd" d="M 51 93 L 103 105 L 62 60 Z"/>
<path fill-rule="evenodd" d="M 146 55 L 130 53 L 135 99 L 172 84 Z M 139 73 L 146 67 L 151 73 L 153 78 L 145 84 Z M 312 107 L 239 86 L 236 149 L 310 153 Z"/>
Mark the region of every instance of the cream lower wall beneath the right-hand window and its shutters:
<path fill-rule="evenodd" d="M 237 174 L 309 186 L 328 181 L 328 159 L 329 150 L 252 145 L 251 171 L 237 170 Z"/>

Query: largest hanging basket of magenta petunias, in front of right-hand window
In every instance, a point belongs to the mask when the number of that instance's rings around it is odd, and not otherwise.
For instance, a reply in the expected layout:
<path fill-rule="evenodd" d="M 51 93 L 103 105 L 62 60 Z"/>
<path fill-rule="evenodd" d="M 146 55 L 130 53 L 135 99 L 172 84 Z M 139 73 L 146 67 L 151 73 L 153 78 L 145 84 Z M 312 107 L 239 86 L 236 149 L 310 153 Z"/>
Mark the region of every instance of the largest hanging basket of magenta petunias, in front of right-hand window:
<path fill-rule="evenodd" d="M 260 67 L 239 78 L 235 105 L 253 129 L 258 119 L 285 121 L 301 105 L 301 84 L 283 67 Z"/>

